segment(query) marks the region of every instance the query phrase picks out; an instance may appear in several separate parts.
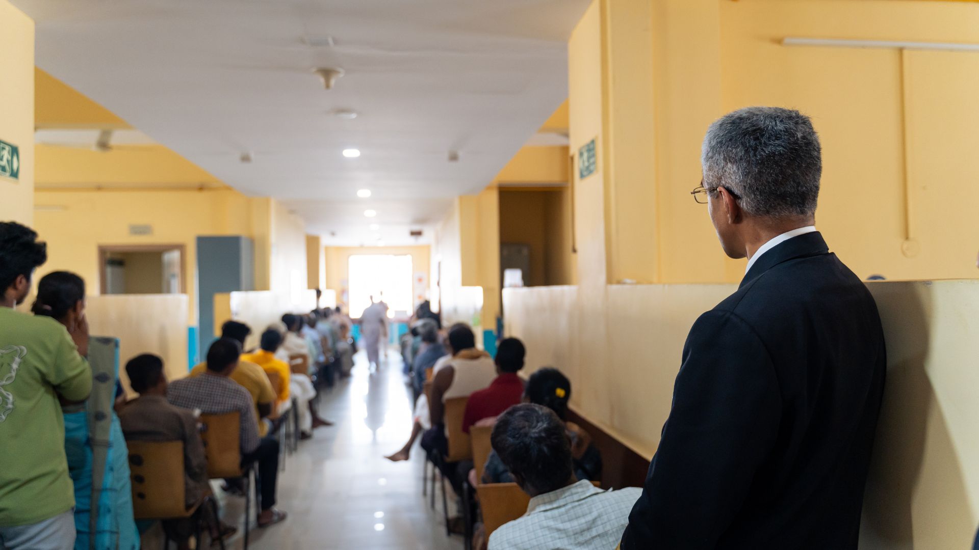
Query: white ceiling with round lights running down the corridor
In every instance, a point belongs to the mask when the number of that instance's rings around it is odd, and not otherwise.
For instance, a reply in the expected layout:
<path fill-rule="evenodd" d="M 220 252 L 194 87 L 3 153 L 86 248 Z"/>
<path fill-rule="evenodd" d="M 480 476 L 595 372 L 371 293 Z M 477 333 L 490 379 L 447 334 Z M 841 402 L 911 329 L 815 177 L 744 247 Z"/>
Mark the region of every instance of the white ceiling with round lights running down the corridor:
<path fill-rule="evenodd" d="M 451 197 L 489 184 L 567 97 L 567 38 L 588 4 L 13 2 L 37 23 L 38 67 L 346 245 L 375 241 L 370 223 L 388 245 L 413 242 L 408 227 L 438 222 Z M 333 47 L 307 45 L 326 37 Z M 310 69 L 332 66 L 346 75 L 327 91 Z M 348 147 L 362 156 L 345 159 Z M 361 188 L 373 198 L 357 199 Z"/>

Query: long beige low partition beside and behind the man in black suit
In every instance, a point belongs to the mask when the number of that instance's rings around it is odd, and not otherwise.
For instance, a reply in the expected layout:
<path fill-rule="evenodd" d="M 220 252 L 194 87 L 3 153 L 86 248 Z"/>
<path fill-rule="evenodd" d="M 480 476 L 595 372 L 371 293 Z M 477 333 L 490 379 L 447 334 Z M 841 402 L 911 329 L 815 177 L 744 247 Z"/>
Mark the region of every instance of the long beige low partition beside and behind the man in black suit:
<path fill-rule="evenodd" d="M 888 380 L 861 548 L 968 548 L 979 522 L 979 281 L 867 286 L 884 323 Z M 530 370 L 568 374 L 576 412 L 650 458 L 687 331 L 734 289 L 607 286 L 607 312 L 588 309 L 576 287 L 508 289 L 506 335 L 525 341 Z"/>

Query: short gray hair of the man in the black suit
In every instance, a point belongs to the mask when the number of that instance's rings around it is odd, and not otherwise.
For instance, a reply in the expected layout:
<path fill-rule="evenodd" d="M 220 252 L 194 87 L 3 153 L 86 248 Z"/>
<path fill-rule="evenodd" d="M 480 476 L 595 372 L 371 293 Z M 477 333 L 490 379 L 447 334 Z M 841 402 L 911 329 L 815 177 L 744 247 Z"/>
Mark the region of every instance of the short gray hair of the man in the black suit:
<path fill-rule="evenodd" d="M 746 212 L 765 217 L 816 212 L 822 155 L 809 116 L 791 109 L 748 107 L 707 130 L 701 152 L 704 186 L 723 186 Z"/>

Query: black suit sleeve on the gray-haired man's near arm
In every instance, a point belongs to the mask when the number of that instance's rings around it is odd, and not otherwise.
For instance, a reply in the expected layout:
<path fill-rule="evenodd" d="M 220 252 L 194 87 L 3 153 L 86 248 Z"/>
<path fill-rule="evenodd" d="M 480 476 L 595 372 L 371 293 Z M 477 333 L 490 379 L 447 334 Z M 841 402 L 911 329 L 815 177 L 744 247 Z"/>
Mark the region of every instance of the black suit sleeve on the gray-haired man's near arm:
<path fill-rule="evenodd" d="M 751 327 L 729 312 L 702 315 L 623 550 L 715 548 L 769 453 L 780 410 L 769 352 Z"/>

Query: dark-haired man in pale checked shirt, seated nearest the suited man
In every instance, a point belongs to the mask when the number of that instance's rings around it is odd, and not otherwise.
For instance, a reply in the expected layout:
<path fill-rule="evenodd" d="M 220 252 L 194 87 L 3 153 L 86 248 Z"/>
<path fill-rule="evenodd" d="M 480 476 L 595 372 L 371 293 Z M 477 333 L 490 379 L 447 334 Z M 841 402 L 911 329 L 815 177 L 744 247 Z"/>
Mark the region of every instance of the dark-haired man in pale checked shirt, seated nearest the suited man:
<path fill-rule="evenodd" d="M 642 489 L 605 491 L 576 480 L 571 441 L 554 411 L 514 405 L 496 420 L 491 441 L 531 504 L 489 535 L 489 550 L 616 547 Z"/>

